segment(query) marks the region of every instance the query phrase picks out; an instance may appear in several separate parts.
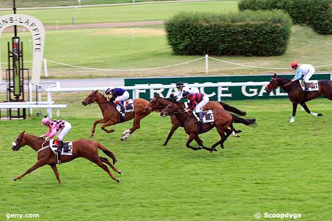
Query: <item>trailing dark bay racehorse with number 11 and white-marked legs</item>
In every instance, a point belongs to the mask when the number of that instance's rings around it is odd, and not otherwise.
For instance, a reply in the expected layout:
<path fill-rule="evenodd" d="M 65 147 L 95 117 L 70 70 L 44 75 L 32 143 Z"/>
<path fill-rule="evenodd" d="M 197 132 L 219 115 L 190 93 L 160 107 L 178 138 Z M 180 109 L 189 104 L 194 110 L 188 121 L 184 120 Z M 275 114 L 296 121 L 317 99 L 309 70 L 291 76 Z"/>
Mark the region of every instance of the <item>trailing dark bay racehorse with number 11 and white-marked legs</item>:
<path fill-rule="evenodd" d="M 325 96 L 328 100 L 332 100 L 332 81 L 318 81 L 318 91 L 303 91 L 299 81 L 292 82 L 289 79 L 278 77 L 275 73 L 270 83 L 267 85 L 266 92 L 281 87 L 288 93 L 289 100 L 293 103 L 293 115 L 290 122 L 294 122 L 297 105 L 300 104 L 303 109 L 313 116 L 323 116 L 321 113 L 314 113 L 309 110 L 305 102 L 316 99 L 319 96 Z"/>

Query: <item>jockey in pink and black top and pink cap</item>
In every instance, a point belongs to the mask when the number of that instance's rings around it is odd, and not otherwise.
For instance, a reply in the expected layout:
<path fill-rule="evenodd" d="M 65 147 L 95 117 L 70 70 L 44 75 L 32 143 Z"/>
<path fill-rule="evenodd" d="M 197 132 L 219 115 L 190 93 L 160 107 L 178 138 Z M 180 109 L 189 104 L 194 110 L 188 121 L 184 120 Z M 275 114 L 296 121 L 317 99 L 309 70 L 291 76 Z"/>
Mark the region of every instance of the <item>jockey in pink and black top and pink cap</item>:
<path fill-rule="evenodd" d="M 44 138 L 45 140 L 50 140 L 58 132 L 59 146 L 56 152 L 58 152 L 59 156 L 63 148 L 63 137 L 69 132 L 69 130 L 72 128 L 72 125 L 70 125 L 68 121 L 52 120 L 47 116 L 44 116 L 44 118 L 41 120 L 41 124 L 46 127 L 49 127 L 49 132 L 41 135 L 40 138 Z"/>

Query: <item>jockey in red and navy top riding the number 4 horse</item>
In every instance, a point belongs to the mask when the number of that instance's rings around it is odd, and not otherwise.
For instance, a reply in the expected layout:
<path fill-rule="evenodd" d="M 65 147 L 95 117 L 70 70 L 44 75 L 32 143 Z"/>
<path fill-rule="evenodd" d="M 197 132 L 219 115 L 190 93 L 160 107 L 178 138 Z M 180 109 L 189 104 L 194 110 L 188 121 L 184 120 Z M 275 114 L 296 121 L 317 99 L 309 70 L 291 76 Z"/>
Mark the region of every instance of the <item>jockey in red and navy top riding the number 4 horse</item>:
<path fill-rule="evenodd" d="M 199 122 L 203 122 L 203 107 L 209 102 L 207 95 L 203 93 L 189 93 L 184 91 L 182 97 L 190 101 L 189 106 L 185 109 L 185 112 L 192 110 L 196 115 L 199 116 Z"/>

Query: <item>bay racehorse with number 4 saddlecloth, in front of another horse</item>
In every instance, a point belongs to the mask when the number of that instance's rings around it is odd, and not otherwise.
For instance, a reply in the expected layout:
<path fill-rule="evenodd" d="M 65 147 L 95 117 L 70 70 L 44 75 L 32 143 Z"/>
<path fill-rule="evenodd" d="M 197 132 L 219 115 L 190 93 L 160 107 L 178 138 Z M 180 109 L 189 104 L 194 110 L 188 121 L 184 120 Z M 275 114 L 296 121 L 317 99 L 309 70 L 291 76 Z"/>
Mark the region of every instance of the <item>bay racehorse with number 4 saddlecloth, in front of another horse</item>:
<path fill-rule="evenodd" d="M 219 140 L 218 142 L 213 144 L 211 148 L 206 148 L 203 145 L 202 140 L 199 139 L 199 137 L 198 137 L 198 135 L 201 132 L 199 130 L 199 124 L 197 124 L 197 119 L 194 116 L 192 116 L 191 114 L 188 114 L 183 111 L 184 110 L 180 106 L 178 106 L 176 103 L 172 102 L 172 103 L 168 104 L 160 112 L 160 116 L 165 117 L 170 114 L 175 115 L 177 120 L 183 125 L 184 131 L 186 132 L 186 134 L 189 135 L 189 138 L 186 142 L 187 148 L 190 148 L 194 151 L 204 149 L 204 150 L 210 151 L 210 153 L 212 153 L 215 150 L 216 146 L 220 144 L 221 148 L 224 149 L 223 143 L 225 142 L 227 137 L 232 133 L 232 131 L 227 128 L 232 124 L 232 121 L 233 121 L 233 115 L 231 113 L 229 113 L 228 111 L 222 110 L 222 109 L 212 110 L 214 117 L 215 117 L 215 121 L 203 124 L 202 133 L 205 133 L 205 132 L 211 130 L 212 128 L 216 128 L 220 135 L 221 140 Z M 256 119 L 243 119 L 243 120 L 244 120 L 244 124 L 248 125 L 248 126 L 254 126 L 255 121 L 256 121 Z M 226 135 L 225 135 L 225 132 L 226 132 Z M 198 143 L 198 145 L 199 145 L 198 148 L 194 148 L 193 146 L 190 145 L 190 143 L 193 140 L 195 140 Z"/>

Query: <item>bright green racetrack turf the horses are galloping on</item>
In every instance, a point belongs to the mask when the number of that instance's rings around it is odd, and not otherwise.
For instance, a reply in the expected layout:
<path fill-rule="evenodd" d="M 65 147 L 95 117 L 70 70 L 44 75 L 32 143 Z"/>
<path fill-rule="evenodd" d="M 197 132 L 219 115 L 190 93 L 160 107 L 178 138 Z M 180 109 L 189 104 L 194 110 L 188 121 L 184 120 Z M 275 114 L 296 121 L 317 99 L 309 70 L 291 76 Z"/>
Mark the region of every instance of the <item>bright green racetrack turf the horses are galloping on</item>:
<path fill-rule="evenodd" d="M 93 120 L 101 116 L 97 105 L 80 105 L 86 95 L 55 96 L 57 103 L 68 104 L 61 111 L 61 117 L 73 125 L 66 139 L 88 138 Z M 94 140 L 118 158 L 116 166 L 124 173 L 115 175 L 120 184 L 85 159 L 59 166 L 62 186 L 48 166 L 14 183 L 11 178 L 29 168 L 36 154 L 28 146 L 12 152 L 11 142 L 22 130 L 40 135 L 46 128 L 37 117 L 1 121 L 1 220 L 7 213 L 39 213 L 43 221 L 247 221 L 256 220 L 256 212 L 301 213 L 301 220 L 329 220 L 330 101 L 309 103 L 323 117 L 299 109 L 294 124 L 288 122 L 291 103 L 286 99 L 229 104 L 257 118 L 258 126 L 235 125 L 244 131 L 242 137 L 230 137 L 224 150 L 212 154 L 187 149 L 183 129 L 176 131 L 167 147 L 162 146 L 171 124 L 157 113 L 144 118 L 125 142 L 118 138 L 132 121 L 110 127 L 116 129 L 112 134 L 99 126 Z M 201 138 L 206 146 L 218 140 L 216 131 Z"/>

